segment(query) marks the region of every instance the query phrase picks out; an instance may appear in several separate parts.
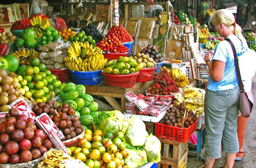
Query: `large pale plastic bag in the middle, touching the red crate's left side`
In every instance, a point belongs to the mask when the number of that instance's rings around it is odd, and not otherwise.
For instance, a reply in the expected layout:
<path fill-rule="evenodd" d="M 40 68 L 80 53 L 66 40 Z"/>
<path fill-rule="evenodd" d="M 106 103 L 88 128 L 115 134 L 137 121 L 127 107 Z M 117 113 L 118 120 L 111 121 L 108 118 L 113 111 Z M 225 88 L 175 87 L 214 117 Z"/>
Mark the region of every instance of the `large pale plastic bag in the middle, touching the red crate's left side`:
<path fill-rule="evenodd" d="M 132 116 L 128 122 L 128 128 L 125 132 L 125 142 L 131 146 L 142 146 L 145 144 L 146 137 L 148 136 L 145 123 Z"/>

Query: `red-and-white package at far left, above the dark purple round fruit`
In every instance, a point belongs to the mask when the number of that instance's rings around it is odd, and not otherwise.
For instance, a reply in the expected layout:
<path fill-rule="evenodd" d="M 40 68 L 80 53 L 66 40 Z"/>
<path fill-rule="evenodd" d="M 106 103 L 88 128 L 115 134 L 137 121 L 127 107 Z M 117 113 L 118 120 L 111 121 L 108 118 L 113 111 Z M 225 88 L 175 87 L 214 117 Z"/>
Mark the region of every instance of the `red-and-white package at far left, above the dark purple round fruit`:
<path fill-rule="evenodd" d="M 35 119 L 35 117 L 37 116 L 31 109 L 30 105 L 28 105 L 28 103 L 26 103 L 26 101 L 24 100 L 24 98 L 19 98 L 16 101 L 10 103 L 9 108 L 15 108 L 18 109 L 19 114 L 24 114 L 25 116 L 27 116 L 28 118 L 33 118 Z"/>

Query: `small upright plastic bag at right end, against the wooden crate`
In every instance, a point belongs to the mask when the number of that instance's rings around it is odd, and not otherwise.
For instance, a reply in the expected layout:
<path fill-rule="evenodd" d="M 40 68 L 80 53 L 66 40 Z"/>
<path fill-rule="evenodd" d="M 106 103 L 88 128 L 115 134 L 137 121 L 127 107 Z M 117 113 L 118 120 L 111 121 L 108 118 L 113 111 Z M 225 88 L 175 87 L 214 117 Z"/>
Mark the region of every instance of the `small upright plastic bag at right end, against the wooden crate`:
<path fill-rule="evenodd" d="M 156 136 L 150 134 L 150 136 L 146 138 L 145 150 L 147 152 L 147 160 L 149 162 L 161 161 L 161 142 L 156 138 Z"/>

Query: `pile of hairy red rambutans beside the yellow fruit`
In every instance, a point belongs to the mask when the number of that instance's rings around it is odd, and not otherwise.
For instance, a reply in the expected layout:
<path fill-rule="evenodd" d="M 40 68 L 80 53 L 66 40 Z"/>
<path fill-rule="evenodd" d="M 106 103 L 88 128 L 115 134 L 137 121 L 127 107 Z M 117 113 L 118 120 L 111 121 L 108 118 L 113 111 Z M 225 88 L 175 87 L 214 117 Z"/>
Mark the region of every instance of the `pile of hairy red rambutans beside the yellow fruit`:
<path fill-rule="evenodd" d="M 149 87 L 147 87 L 145 93 L 169 95 L 179 91 L 167 70 L 161 70 L 161 72 L 155 76 L 154 81 L 154 84 L 150 84 Z"/>

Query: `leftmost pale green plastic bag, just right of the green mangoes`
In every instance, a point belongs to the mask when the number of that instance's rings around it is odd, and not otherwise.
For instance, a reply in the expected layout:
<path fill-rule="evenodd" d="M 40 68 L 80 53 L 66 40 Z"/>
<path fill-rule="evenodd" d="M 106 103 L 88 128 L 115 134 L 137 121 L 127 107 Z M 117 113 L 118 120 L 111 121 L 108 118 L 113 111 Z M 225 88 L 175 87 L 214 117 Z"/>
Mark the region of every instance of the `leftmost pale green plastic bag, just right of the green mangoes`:
<path fill-rule="evenodd" d="M 100 130 L 102 132 L 111 132 L 115 134 L 116 132 L 122 132 L 125 134 L 127 127 L 128 127 L 128 119 L 118 110 L 111 111 L 111 114 L 107 114 L 105 112 L 105 115 L 111 115 L 110 117 L 102 119 L 100 122 Z M 102 118 L 104 116 L 101 116 Z"/>

